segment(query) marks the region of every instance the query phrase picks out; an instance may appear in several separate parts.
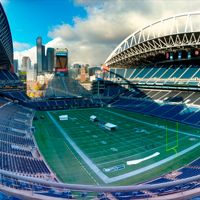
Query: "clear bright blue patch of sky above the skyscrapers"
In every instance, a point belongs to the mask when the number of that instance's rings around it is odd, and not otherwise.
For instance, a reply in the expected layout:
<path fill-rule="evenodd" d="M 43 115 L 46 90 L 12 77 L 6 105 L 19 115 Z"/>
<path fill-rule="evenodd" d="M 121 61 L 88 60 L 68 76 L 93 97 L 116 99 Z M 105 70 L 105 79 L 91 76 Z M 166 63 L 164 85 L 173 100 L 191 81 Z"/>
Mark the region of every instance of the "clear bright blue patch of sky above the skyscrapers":
<path fill-rule="evenodd" d="M 9 0 L 3 4 L 13 41 L 35 45 L 37 36 L 43 42 L 51 40 L 48 32 L 58 24 L 73 26 L 74 17 L 87 17 L 83 6 L 72 0 Z"/>

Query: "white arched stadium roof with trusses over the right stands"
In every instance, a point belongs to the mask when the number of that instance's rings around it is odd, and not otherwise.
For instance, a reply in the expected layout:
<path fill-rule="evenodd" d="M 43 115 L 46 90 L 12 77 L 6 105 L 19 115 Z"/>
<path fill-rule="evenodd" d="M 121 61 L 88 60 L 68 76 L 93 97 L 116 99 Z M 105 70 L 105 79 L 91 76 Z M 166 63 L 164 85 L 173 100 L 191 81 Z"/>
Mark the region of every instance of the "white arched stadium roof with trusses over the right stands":
<path fill-rule="evenodd" d="M 158 20 L 125 38 L 108 56 L 108 66 L 126 66 L 166 50 L 200 46 L 200 11 Z"/>

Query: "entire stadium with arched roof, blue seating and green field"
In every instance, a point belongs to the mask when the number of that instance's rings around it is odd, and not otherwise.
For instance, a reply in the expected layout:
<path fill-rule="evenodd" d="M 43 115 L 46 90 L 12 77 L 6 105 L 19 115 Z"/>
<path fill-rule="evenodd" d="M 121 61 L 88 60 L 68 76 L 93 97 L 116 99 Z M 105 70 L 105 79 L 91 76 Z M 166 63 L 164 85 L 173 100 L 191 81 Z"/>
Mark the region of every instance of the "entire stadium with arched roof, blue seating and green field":
<path fill-rule="evenodd" d="M 200 12 L 125 38 L 86 91 L 29 98 L 0 5 L 1 199 L 199 199 Z"/>

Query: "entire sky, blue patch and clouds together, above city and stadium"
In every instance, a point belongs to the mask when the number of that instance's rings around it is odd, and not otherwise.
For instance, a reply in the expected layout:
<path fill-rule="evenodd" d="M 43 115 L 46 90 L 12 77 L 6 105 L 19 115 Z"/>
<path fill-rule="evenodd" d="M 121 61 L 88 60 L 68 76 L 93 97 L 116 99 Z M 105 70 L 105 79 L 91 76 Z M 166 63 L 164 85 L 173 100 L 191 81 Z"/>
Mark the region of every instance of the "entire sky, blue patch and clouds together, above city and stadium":
<path fill-rule="evenodd" d="M 185 0 L 117 0 L 114 4 L 113 0 L 1 2 L 11 22 L 15 59 L 29 56 L 36 63 L 34 43 L 40 35 L 46 48 L 67 47 L 70 63 L 91 65 L 102 64 L 113 48 L 139 27 L 160 18 L 196 11 L 194 8 L 200 6 L 197 0 L 189 4 Z"/>

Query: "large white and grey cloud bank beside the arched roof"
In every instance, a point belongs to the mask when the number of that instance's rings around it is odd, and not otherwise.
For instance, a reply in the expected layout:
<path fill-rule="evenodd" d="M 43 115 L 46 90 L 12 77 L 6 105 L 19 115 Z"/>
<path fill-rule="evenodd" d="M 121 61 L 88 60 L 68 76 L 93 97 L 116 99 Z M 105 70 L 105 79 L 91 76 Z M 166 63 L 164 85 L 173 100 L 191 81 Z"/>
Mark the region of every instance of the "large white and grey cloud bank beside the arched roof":
<path fill-rule="evenodd" d="M 75 3 L 84 6 L 87 18 L 74 17 L 73 26 L 62 23 L 52 27 L 48 33 L 52 41 L 47 46 L 67 47 L 71 63 L 92 65 L 103 63 L 112 50 L 138 28 L 200 7 L 198 0 L 190 3 L 187 0 L 76 0 Z"/>

